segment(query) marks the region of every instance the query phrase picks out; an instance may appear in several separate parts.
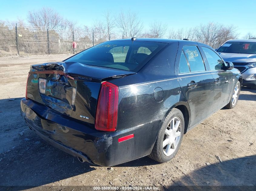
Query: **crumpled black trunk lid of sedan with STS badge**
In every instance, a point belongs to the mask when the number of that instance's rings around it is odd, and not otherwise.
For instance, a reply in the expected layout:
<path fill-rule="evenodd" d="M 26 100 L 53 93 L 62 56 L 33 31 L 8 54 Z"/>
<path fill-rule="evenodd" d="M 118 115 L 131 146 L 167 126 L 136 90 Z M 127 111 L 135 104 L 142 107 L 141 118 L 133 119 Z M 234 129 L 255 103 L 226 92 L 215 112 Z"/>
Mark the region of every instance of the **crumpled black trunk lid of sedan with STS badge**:
<path fill-rule="evenodd" d="M 89 66 L 78 62 L 32 65 L 28 75 L 26 96 L 94 127 L 101 82 L 132 74 L 135 72 Z M 38 80 L 43 81 L 45 93 L 39 92 Z"/>

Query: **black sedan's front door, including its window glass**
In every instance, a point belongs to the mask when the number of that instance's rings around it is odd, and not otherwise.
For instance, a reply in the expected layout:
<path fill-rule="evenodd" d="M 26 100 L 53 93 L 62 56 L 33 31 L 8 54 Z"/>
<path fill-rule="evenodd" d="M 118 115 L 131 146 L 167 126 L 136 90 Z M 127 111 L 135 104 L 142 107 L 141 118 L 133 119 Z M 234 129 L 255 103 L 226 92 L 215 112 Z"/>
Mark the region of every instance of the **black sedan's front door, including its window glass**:
<path fill-rule="evenodd" d="M 226 70 L 225 62 L 217 53 L 208 47 L 201 47 L 214 78 L 213 104 L 210 108 L 211 113 L 214 113 L 228 103 L 232 88 L 232 72 Z"/>

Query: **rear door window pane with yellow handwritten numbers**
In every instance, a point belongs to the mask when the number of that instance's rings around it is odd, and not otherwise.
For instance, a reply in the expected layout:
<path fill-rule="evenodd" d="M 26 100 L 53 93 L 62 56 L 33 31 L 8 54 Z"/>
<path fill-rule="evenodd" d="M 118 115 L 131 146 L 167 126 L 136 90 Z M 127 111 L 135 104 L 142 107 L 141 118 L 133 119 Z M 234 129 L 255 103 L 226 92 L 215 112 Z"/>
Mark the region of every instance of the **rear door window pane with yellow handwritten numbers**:
<path fill-rule="evenodd" d="M 204 61 L 197 46 L 183 46 L 191 72 L 205 71 Z"/>

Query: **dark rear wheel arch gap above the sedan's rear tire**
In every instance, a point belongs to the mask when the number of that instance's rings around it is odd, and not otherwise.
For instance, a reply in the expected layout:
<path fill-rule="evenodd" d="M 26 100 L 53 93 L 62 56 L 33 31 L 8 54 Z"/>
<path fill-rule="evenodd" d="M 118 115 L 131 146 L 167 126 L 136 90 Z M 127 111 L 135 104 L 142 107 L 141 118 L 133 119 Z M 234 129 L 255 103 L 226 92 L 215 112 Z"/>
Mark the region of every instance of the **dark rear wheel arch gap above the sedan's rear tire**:
<path fill-rule="evenodd" d="M 189 128 L 189 124 L 190 124 L 190 108 L 187 102 L 185 101 L 180 101 L 175 103 L 166 113 L 164 118 L 161 121 L 161 125 L 164 122 L 166 116 L 168 115 L 168 113 L 170 113 L 170 111 L 176 108 L 178 110 L 181 111 L 181 113 L 183 114 L 184 117 L 184 122 L 185 122 L 185 128 L 184 128 L 184 134 L 187 132 L 188 128 Z"/>

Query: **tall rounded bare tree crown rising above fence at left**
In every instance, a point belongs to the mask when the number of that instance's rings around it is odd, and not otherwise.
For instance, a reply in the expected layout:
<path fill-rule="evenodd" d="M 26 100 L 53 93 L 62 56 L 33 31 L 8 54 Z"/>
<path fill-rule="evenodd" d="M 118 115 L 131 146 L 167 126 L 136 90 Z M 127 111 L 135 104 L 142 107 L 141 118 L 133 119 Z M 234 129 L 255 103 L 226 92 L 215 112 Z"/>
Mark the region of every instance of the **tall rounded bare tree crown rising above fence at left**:
<path fill-rule="evenodd" d="M 63 28 L 63 17 L 51 8 L 42 8 L 38 11 L 28 12 L 28 23 L 40 29 L 55 30 Z"/>

